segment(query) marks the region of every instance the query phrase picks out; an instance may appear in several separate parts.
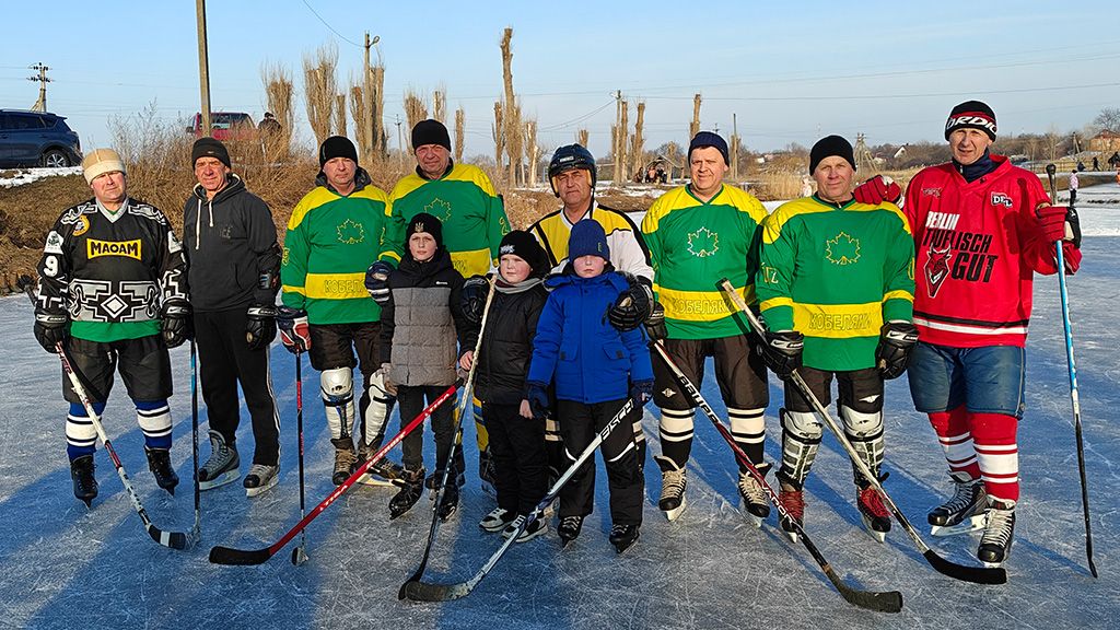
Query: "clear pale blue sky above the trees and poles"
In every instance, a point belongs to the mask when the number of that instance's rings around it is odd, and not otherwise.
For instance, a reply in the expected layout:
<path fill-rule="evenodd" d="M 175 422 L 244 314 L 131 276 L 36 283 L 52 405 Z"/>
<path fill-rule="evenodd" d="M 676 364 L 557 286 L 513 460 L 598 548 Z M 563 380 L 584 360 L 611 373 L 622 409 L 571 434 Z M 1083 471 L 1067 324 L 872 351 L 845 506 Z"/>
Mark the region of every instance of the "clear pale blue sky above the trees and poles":
<path fill-rule="evenodd" d="M 314 9 L 314 10 L 312 10 Z M 198 110 L 195 2 L 12 2 L 0 38 L 0 106 L 29 108 L 50 66 L 48 109 L 68 117 L 83 148 L 111 140 L 109 121 L 155 103 L 158 115 Z M 949 110 L 976 98 L 1001 135 L 1071 132 L 1120 106 L 1116 2 L 207 2 L 214 110 L 263 113 L 261 66 L 287 66 L 304 117 L 305 54 L 335 43 L 338 80 L 360 75 L 363 34 L 379 35 L 386 119 L 403 120 L 405 89 L 446 89 L 466 110 L 467 155 L 493 152 L 502 93 L 498 39 L 514 28 L 513 75 L 538 142 L 551 150 L 590 130 L 606 155 L 614 92 L 646 102 L 646 148 L 688 141 L 692 94 L 701 124 L 747 147 L 811 145 L 864 132 L 872 145 L 941 140 Z M 395 145 L 390 127 L 390 143 Z"/>

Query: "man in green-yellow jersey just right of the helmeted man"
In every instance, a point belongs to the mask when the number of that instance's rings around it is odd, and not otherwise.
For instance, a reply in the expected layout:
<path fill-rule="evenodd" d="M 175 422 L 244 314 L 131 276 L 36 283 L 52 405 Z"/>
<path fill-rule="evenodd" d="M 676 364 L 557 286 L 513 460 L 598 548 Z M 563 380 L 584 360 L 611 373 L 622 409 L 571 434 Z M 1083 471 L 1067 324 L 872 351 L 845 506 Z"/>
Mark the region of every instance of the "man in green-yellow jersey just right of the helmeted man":
<path fill-rule="evenodd" d="M 754 302 L 759 224 L 766 210 L 749 193 L 724 185 L 728 169 L 727 142 L 701 131 L 689 143 L 691 183 L 661 196 L 642 221 L 642 233 L 653 258 L 654 290 L 665 312 L 666 353 L 699 389 L 704 359 L 712 356 L 716 381 L 727 405 L 731 434 L 763 474 L 764 413 L 769 402 L 766 368 L 753 341 L 743 334 L 716 288 L 728 278 Z M 661 408 L 659 507 L 673 520 L 684 509 L 685 473 L 692 451 L 696 402 L 663 361 L 654 361 L 654 402 Z M 752 521 L 769 515 L 762 487 L 739 470 L 739 493 Z"/>

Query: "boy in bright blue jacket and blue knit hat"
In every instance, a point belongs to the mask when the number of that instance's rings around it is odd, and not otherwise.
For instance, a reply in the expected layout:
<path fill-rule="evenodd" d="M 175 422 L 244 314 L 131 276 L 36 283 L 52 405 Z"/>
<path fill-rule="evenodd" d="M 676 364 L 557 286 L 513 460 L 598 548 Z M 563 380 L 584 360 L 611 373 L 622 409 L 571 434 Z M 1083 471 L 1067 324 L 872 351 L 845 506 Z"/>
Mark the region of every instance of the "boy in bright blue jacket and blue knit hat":
<path fill-rule="evenodd" d="M 610 266 L 603 225 L 576 223 L 568 259 L 563 274 L 545 282 L 552 293 L 536 323 L 526 389 L 534 413 L 543 416 L 547 387 L 556 379 L 560 435 L 566 455 L 575 462 L 627 398 L 644 405 L 653 396 L 653 365 L 644 330 L 620 333 L 607 321 L 607 311 L 628 284 Z M 633 432 L 610 432 L 603 457 L 610 488 L 610 544 L 620 554 L 638 538 L 645 493 Z M 579 536 L 584 518 L 591 513 L 594 465 L 586 462 L 560 492 L 561 545 Z"/>

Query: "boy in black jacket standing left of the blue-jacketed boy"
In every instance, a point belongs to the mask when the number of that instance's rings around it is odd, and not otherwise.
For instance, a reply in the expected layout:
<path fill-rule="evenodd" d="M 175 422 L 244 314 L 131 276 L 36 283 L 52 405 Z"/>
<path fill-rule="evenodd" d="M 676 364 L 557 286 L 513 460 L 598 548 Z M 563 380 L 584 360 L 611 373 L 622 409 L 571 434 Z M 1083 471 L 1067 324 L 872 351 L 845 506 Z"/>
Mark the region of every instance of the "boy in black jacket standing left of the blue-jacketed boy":
<path fill-rule="evenodd" d="M 475 368 L 475 395 L 489 432 L 494 456 L 497 508 L 478 524 L 486 531 L 512 536 L 544 497 L 544 418 L 533 417 L 525 399 L 525 376 L 533 355 L 536 319 L 549 294 L 543 279 L 549 272 L 544 250 L 529 232 L 514 230 L 498 248 L 498 277 L 486 316 L 478 331 L 489 284 L 482 276 L 467 280 L 463 313 L 475 326 L 459 367 L 469 370 L 474 346 L 483 335 Z M 533 521 L 517 543 L 532 540 L 548 529 L 544 519 Z"/>

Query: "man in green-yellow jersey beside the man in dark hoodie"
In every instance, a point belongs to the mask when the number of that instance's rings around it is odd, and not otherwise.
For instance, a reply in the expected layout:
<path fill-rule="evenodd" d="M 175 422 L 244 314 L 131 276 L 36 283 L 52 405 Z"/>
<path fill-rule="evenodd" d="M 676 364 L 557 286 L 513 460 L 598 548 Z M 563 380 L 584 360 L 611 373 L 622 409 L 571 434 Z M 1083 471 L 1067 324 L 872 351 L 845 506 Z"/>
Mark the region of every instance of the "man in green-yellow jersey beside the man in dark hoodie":
<path fill-rule="evenodd" d="M 288 222 L 280 281 L 283 306 L 277 315 L 284 348 L 310 352 L 320 372 L 327 427 L 335 445 L 332 481 L 351 475 L 384 438 L 392 399 L 381 373 L 381 306 L 365 289 L 366 268 L 376 259 L 385 219 L 385 193 L 357 165 L 357 149 L 342 136 L 319 148 L 315 189 L 296 204 Z M 355 361 L 355 352 L 357 358 Z M 354 368 L 362 371 L 362 436 L 355 455 Z M 388 458 L 370 469 L 395 479 L 400 466 Z M 373 481 L 373 480 L 370 480 Z"/>

